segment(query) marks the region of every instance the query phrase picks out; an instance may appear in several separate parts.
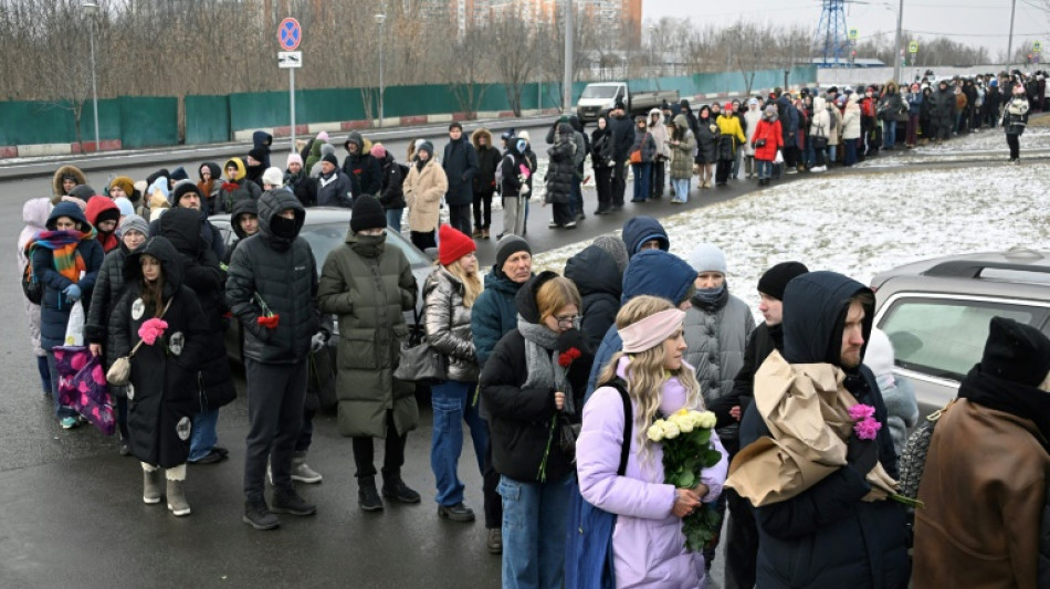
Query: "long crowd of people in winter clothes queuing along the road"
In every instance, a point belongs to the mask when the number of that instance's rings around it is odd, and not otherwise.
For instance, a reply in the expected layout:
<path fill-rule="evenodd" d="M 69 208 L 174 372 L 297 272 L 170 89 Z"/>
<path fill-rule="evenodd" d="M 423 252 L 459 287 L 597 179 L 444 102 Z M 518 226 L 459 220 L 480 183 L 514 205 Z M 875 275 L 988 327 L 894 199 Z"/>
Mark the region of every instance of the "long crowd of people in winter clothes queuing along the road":
<path fill-rule="evenodd" d="M 991 124 L 997 117 L 1002 122 L 1008 137 L 1011 126 L 1023 129 L 1010 108 L 1023 101 L 1017 116 L 1027 119 L 1025 88 L 1011 86 L 1004 114 L 991 117 Z M 766 185 L 780 157 L 788 172 L 807 166 L 820 171 L 837 160 L 838 145 L 844 145 L 843 161 L 851 165 L 869 141 L 878 144 L 878 124 L 871 127 L 868 115 L 857 114 L 869 106 L 869 118 L 884 122 L 883 147 L 893 148 L 892 113 L 907 108 L 901 105 L 911 104 L 915 90 L 902 97 L 889 83 L 863 95 L 838 96 L 829 88 L 797 99 L 776 91 L 767 104 L 752 98 L 724 108 L 705 105 L 695 115 L 683 101 L 636 122 L 618 105 L 589 136 L 578 120 L 565 117 L 547 135 L 544 188 L 552 227 L 570 229 L 585 217 L 588 154 L 598 185 L 596 214 L 622 207 L 628 166 L 633 200 L 661 198 L 669 187 L 671 201 L 684 202 L 694 175 L 704 189 L 712 181 L 724 186 L 744 168 L 745 177 Z M 941 92 L 949 91 L 938 90 L 932 103 Z M 880 118 L 883 112 L 891 115 Z M 909 117 L 907 146 L 930 129 L 941 133 L 937 123 L 920 123 L 916 130 Z M 858 129 L 864 133 L 854 136 Z M 193 485 L 187 483 L 187 465 L 229 455 L 219 445 L 218 418 L 237 395 L 223 343 L 232 322 L 249 398 L 242 519 L 263 530 L 279 527 L 280 514 L 313 515 L 316 506 L 298 494 L 296 483 L 323 478 L 306 463 L 318 410 L 307 382 L 312 355 L 327 354 L 332 337 L 322 318 L 334 315 L 338 430 L 353 439 L 358 506 L 382 512 L 385 499 L 421 502 L 401 476 L 407 437 L 419 424 L 416 383 L 395 377 L 402 343 L 420 329 L 442 367 L 441 377 L 429 382 L 437 515 L 475 518 L 458 472 L 465 423 L 484 497 L 484 543 L 502 555 L 504 587 L 561 587 L 576 529 L 574 501 L 617 515 L 608 570 L 592 571 L 615 576 L 617 587 L 704 587 L 720 541 L 724 587 L 903 588 L 912 570 L 915 587 L 947 578 L 967 586 L 975 579 L 988 579 L 989 587 L 1046 586 L 1050 530 L 1040 517 L 1050 514 L 1044 488 L 1050 340 L 1044 335 L 993 322 L 985 358 L 933 439 L 936 474 L 924 481 L 920 495 L 937 507 L 916 516 L 913 559 L 904 507 L 885 495 L 872 498 L 872 473 L 897 476 L 905 432 L 917 423 L 918 409 L 906 381 L 893 375 L 890 338 L 873 328 L 869 288 L 833 272 L 810 272 L 800 262 L 779 263 L 756 285 L 739 285 L 760 295 L 763 320 L 756 325 L 731 293 L 729 261 L 717 245 L 702 243 L 679 257 L 670 253 L 660 222 L 644 215 L 629 219 L 621 236 L 599 236 L 584 246 L 564 272 L 534 272 L 524 231 L 537 170 L 531 138 L 508 132 L 501 149 L 486 129 L 470 139 L 456 123 L 449 132 L 440 161 L 430 141 L 418 140 L 405 165 L 381 144 L 351 133 L 342 166 L 322 134 L 304 154 L 290 155 L 283 172 L 270 166 L 272 138 L 260 133 L 243 160 L 231 158 L 223 168 L 201 165 L 199 181 L 182 168 L 160 170 L 138 186 L 113 178 L 98 194 L 78 169 L 60 168 L 53 198 L 25 203 L 18 252 L 22 267 L 43 285 L 40 304 L 27 301 L 25 311 L 41 386 L 61 427 L 83 421 L 61 402 L 55 357 L 80 303 L 90 354 L 103 370 L 130 358 L 128 381 L 108 392 L 116 404 L 119 452 L 140 463 L 143 501 L 166 499 L 174 515 L 189 515 Z M 496 192 L 504 199 L 505 229 L 496 235 L 495 263 L 484 272 L 476 240 L 490 239 Z M 439 217 L 442 200 L 447 224 Z M 351 209 L 345 242 L 321 267 L 300 235 L 313 206 Z M 386 243 L 389 231 L 402 231 L 405 209 L 412 242 L 437 249 L 423 284 L 417 284 L 405 254 Z M 208 221 L 214 212 L 231 213 L 239 240 L 229 251 Z M 420 301 L 422 314 L 413 326 L 406 312 Z M 832 390 L 872 408 L 870 417 L 885 428 L 873 439 L 847 431 L 836 439 L 840 452 L 822 478 L 807 481 L 784 501 L 764 503 L 753 486 L 734 481 L 728 465 L 745 466 L 756 448 L 789 443 L 758 402 L 780 365 L 797 375 L 806 366 L 825 366 L 837 377 Z M 683 408 L 714 413 L 711 448 L 721 455 L 697 473 L 691 488 L 664 483 L 661 445 L 645 434 L 653 419 Z M 633 434 L 623 433 L 631 431 L 629 424 Z M 1014 446 L 1026 448 L 1016 467 L 956 472 L 964 463 L 987 462 L 964 456 L 962 449 L 974 445 L 965 440 L 998 432 L 1009 432 Z M 384 440 L 378 473 L 377 438 Z M 1017 477 L 1019 472 L 1025 476 Z M 963 497 L 985 497 L 991 485 L 1005 485 L 1011 476 L 1020 482 L 997 495 L 1008 495 L 1002 501 L 975 505 Z M 980 484 L 970 485 L 972 478 Z M 726 534 L 692 553 L 681 520 L 704 506 L 727 514 Z M 975 509 L 987 511 L 979 532 L 968 529 L 962 515 Z M 1004 518 L 1016 519 L 1009 530 L 1001 529 Z"/>

